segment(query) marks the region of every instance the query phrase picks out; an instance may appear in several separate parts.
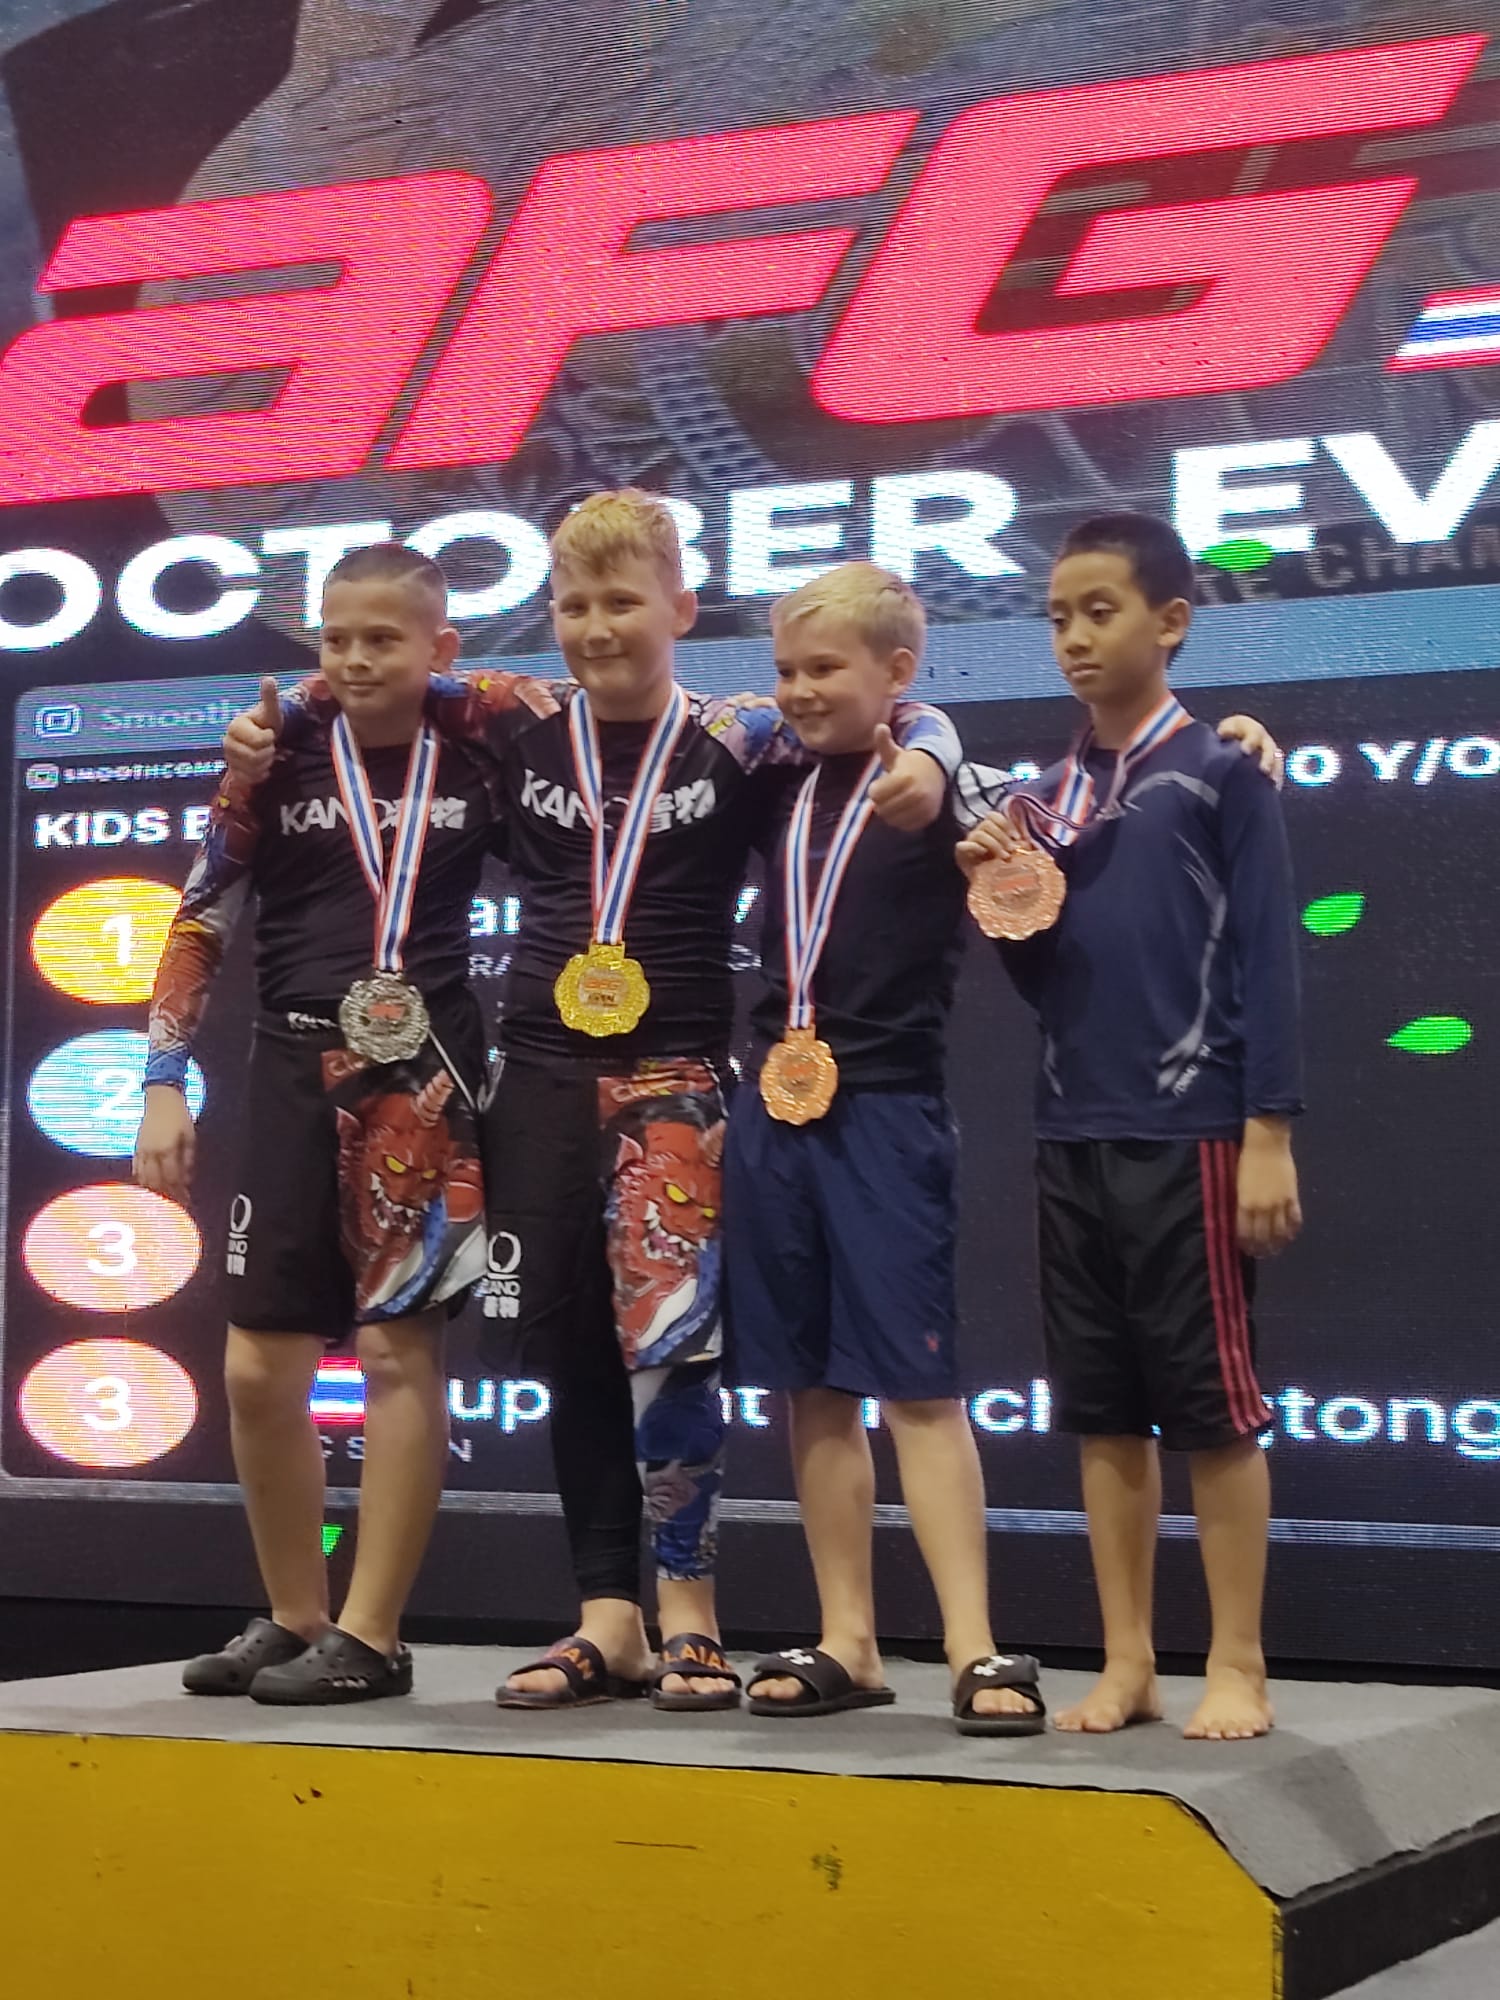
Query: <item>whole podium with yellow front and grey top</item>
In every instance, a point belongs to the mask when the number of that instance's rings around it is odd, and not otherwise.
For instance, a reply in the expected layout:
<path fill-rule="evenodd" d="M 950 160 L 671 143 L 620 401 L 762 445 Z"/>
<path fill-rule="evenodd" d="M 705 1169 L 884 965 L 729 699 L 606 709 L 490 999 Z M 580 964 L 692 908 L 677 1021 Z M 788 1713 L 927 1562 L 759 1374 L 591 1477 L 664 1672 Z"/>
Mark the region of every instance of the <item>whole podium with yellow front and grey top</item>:
<path fill-rule="evenodd" d="M 314 1712 L 172 1666 L 0 1686 L 4 1990 L 1320 2000 L 1500 1916 L 1494 1692 L 1280 1684 L 1230 1746 L 1166 1682 L 1168 1724 L 996 1742 L 934 1666 L 762 1722 L 500 1712 L 520 1658 Z"/>

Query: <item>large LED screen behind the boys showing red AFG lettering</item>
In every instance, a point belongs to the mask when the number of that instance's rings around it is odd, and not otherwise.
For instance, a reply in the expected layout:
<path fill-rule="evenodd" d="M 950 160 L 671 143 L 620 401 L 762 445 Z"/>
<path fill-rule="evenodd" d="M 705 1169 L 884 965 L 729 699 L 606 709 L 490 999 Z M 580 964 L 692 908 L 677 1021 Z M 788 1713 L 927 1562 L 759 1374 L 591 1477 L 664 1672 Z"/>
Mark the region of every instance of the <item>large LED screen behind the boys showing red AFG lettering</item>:
<path fill-rule="evenodd" d="M 128 1180 L 224 720 L 308 666 L 328 564 L 386 534 L 442 556 L 470 660 L 546 666 L 546 532 L 636 480 L 700 588 L 688 682 L 766 684 L 770 600 L 870 554 L 932 610 L 924 692 L 1010 768 L 1072 726 L 1038 618 L 1060 532 L 1178 522 L 1184 696 L 1292 752 L 1312 1112 L 1260 1312 L 1272 1642 L 1498 1660 L 1500 6 L 36 0 L 2 34 L 0 1588 L 254 1594 L 216 1380 L 248 940 L 192 1076 L 192 1216 Z M 746 984 L 756 918 L 750 884 Z M 496 870 L 496 1022 L 520 920 Z M 1032 1060 L 974 950 L 970 1414 L 1006 1632 L 1078 1644 Z M 562 1616 L 546 1390 L 472 1332 L 420 1602 Z M 314 1412 L 346 1492 L 348 1362 Z M 726 1610 L 800 1628 L 780 1414 L 736 1384 L 732 1418 Z M 346 1520 L 336 1492 L 330 1542 Z M 930 1634 L 906 1540 L 880 1560 L 888 1630 Z"/>

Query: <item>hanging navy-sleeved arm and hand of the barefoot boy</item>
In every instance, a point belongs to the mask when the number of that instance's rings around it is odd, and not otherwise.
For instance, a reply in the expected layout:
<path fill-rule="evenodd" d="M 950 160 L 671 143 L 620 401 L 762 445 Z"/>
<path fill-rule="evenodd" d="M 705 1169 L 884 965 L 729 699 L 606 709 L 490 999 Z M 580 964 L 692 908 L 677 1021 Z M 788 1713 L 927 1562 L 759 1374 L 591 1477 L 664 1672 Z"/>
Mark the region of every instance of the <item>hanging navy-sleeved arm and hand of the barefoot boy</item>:
<path fill-rule="evenodd" d="M 1302 1228 L 1292 1158 L 1302 1110 L 1296 890 L 1280 798 L 1240 756 L 1222 774 L 1220 836 L 1244 1024 L 1238 1236 L 1248 1256 L 1274 1256 Z"/>

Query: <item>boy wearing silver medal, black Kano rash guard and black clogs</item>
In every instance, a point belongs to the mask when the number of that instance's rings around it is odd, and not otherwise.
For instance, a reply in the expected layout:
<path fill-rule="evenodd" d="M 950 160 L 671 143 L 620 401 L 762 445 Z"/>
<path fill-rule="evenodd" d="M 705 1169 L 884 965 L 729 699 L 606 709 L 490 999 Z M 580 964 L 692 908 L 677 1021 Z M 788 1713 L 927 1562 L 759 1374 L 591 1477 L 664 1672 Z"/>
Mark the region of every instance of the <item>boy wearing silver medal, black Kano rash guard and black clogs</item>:
<path fill-rule="evenodd" d="M 442 1322 L 484 1272 L 484 1036 L 466 982 L 494 812 L 482 762 L 422 718 L 456 650 L 424 556 L 386 544 L 330 572 L 320 666 L 336 728 L 284 746 L 254 792 L 226 780 L 156 976 L 136 1174 L 186 1200 L 188 1050 L 256 898 L 226 1388 L 270 1618 L 190 1662 L 192 1694 L 302 1704 L 412 1686 L 398 1626 L 448 1456 Z M 330 1626 L 308 1392 L 352 1326 L 368 1398 L 360 1534 Z"/>

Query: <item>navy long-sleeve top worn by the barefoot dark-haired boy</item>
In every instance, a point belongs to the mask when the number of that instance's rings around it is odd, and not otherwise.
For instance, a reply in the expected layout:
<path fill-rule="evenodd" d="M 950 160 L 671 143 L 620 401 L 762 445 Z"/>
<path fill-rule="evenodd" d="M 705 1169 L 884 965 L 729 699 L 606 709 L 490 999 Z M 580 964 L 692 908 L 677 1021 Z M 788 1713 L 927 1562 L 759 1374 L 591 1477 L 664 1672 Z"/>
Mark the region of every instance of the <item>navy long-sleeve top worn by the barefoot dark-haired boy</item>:
<path fill-rule="evenodd" d="M 1096 798 L 1114 768 L 1090 754 Z M 1052 802 L 1062 774 L 1016 790 Z M 1178 730 L 1060 864 L 1058 924 L 1000 946 L 1042 1028 L 1038 1138 L 1238 1138 L 1302 1110 L 1292 864 L 1238 744 Z"/>

